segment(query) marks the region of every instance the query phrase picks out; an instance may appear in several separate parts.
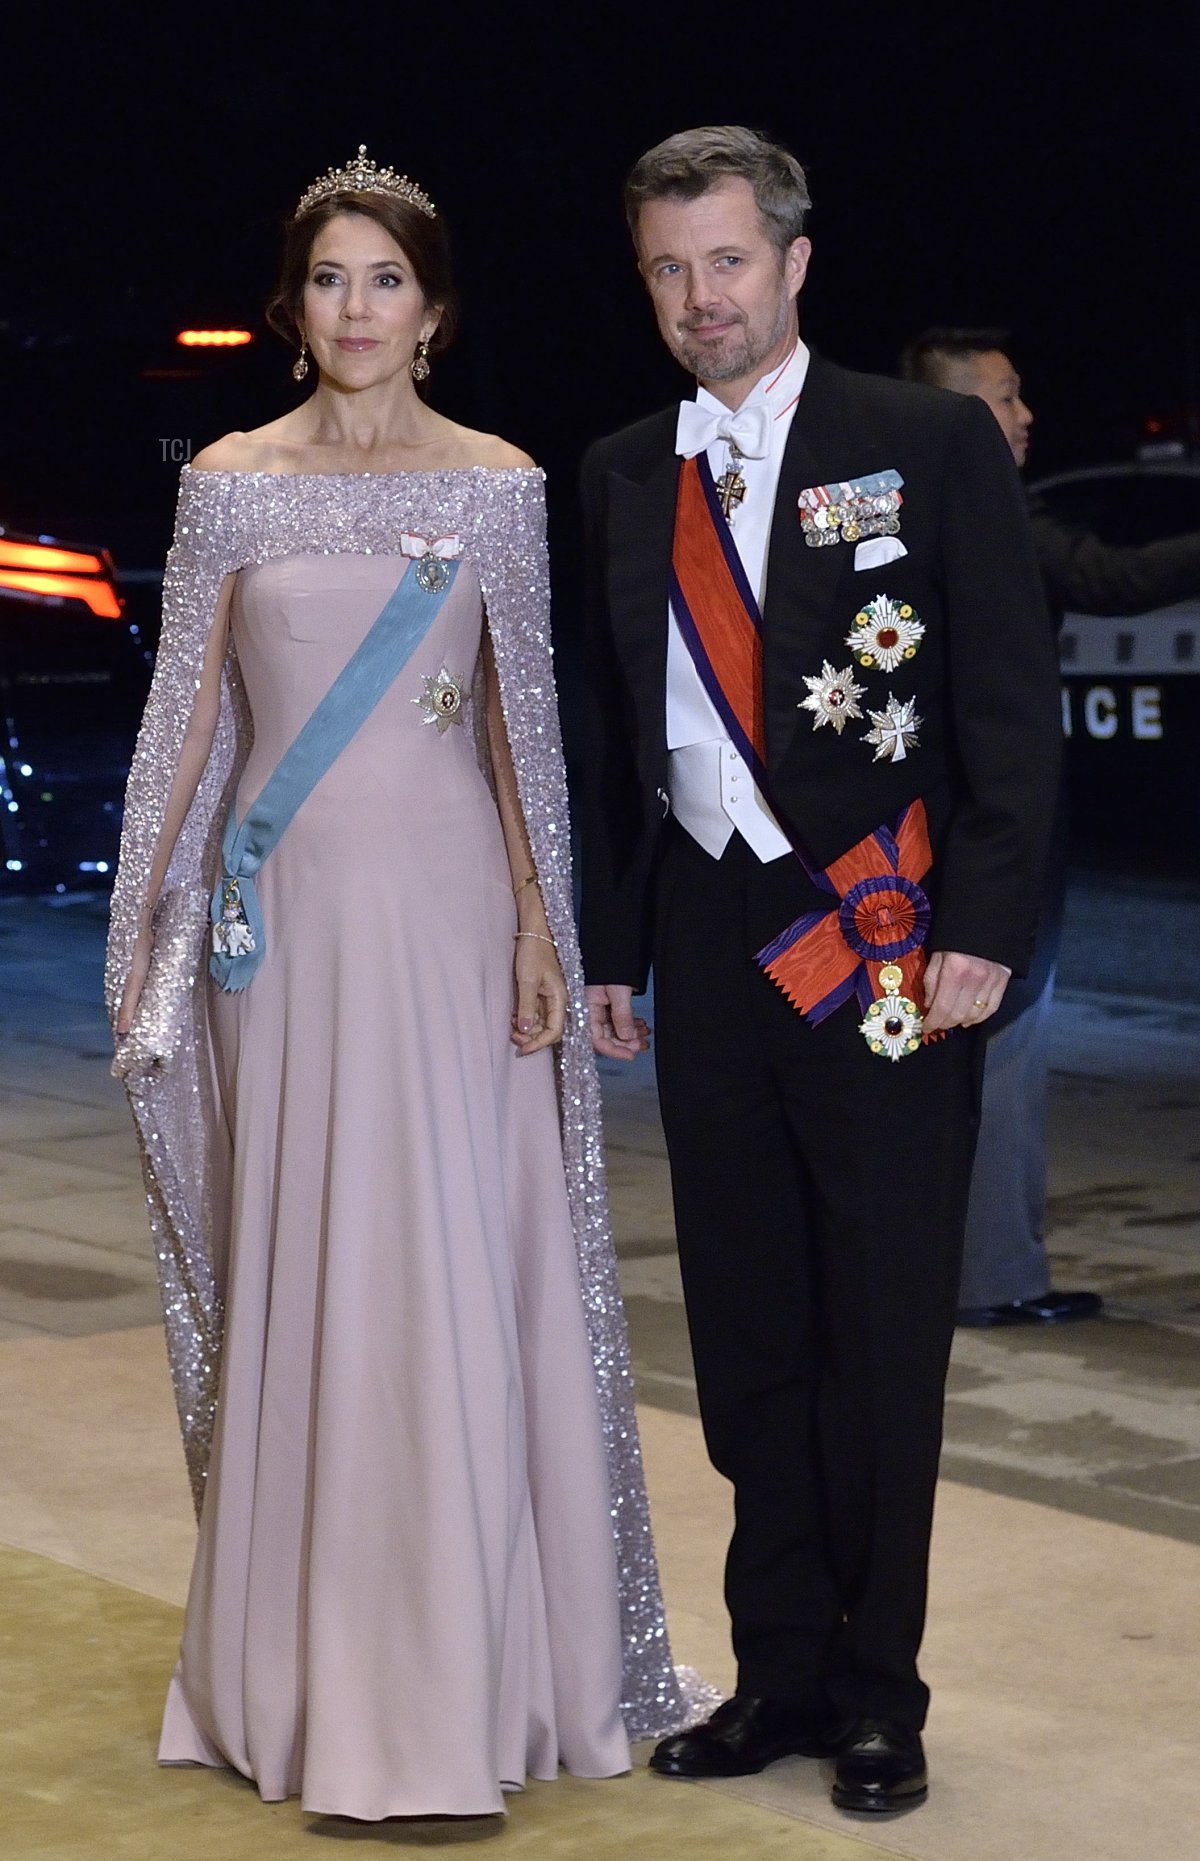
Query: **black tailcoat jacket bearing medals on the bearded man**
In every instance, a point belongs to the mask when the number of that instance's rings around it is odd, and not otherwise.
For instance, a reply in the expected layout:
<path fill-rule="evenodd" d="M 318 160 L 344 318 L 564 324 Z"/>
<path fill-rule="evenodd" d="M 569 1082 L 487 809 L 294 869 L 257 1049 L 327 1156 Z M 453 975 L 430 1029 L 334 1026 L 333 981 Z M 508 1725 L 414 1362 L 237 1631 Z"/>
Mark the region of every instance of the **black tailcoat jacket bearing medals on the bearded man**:
<path fill-rule="evenodd" d="M 666 795 L 666 605 L 679 460 L 673 409 L 593 445 L 584 462 L 586 666 L 582 949 L 588 981 L 644 986 Z M 809 549 L 806 486 L 895 469 L 900 540 L 878 569 L 854 545 Z M 893 674 L 861 672 L 863 709 L 915 696 L 919 746 L 874 761 L 867 718 L 841 735 L 798 709 L 822 661 L 850 664 L 854 616 L 910 603 L 925 638 Z M 932 949 L 1021 973 L 1036 921 L 1060 726 L 1053 636 L 1023 493 L 988 408 L 852 374 L 813 355 L 776 495 L 763 614 L 767 765 L 783 824 L 828 865 L 906 802 L 934 841 Z M 783 927 L 780 927 L 783 929 Z"/>

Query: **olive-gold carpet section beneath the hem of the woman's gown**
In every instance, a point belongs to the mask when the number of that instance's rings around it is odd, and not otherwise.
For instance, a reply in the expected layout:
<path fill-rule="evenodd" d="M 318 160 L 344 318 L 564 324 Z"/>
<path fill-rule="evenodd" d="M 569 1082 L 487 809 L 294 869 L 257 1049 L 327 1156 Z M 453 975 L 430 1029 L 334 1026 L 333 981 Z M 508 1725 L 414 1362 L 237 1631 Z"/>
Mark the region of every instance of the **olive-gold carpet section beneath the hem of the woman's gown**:
<path fill-rule="evenodd" d="M 646 1770 L 603 1783 L 560 1777 L 530 1785 L 508 1798 L 508 1816 L 383 1824 L 260 1803 L 229 1772 L 160 1770 L 162 1677 L 180 1619 L 175 1604 L 50 1558 L 0 1548 L 6 1861 L 268 1861 L 320 1854 L 313 1837 L 394 1848 L 499 1839 L 502 1852 L 521 1861 L 625 1861 L 631 1854 L 638 1861 L 675 1861 L 681 1854 L 703 1861 L 742 1854 L 882 1861 L 878 1848 L 845 1831 L 802 1829 L 785 1813 L 672 1790 Z"/>

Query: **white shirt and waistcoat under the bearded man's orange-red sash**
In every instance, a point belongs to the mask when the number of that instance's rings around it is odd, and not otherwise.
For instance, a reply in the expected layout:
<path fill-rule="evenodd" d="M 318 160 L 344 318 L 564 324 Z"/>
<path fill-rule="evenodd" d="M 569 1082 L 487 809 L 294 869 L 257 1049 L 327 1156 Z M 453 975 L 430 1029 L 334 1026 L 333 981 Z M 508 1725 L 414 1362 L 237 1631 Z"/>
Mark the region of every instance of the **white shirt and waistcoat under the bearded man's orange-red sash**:
<path fill-rule="evenodd" d="M 776 489 L 783 447 L 807 374 L 809 352 L 796 342 L 781 368 L 774 368 L 752 389 L 739 415 L 750 408 L 767 409 L 767 452 L 761 458 L 742 456 L 739 471 L 746 497 L 731 515 L 733 542 L 746 569 L 746 581 L 759 599 L 767 594 L 767 549 L 776 508 Z M 709 413 L 729 419 L 729 409 L 701 387 L 696 404 Z M 713 478 L 720 478 L 731 463 L 729 445 L 714 437 L 707 447 Z M 791 852 L 787 836 L 763 800 L 763 795 L 729 741 L 729 733 L 709 698 L 692 655 L 687 649 L 673 610 L 668 607 L 666 635 L 666 748 L 672 813 L 692 839 L 720 860 L 737 832 L 748 841 L 759 860 L 780 860 Z"/>

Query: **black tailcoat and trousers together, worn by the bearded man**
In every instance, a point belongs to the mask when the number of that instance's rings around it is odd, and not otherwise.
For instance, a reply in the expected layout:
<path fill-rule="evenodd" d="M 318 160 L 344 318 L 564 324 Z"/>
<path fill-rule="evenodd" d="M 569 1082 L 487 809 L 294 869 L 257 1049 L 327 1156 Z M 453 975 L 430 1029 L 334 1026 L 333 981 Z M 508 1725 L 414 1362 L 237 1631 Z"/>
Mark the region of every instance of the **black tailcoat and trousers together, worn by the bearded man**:
<path fill-rule="evenodd" d="M 941 1390 L 973 1143 L 971 1033 L 891 1064 L 852 1005 L 807 1027 L 752 960 L 828 901 L 735 834 L 713 860 L 666 819 L 666 605 L 675 413 L 584 462 L 590 724 L 582 947 L 590 983 L 646 984 L 705 1437 L 733 1479 L 727 1600 L 739 1692 L 919 1727 Z M 904 478 L 908 555 L 856 571 L 809 549 L 802 488 Z M 804 676 L 874 594 L 927 633 L 863 705 L 915 694 L 919 748 L 874 761 L 798 709 Z M 982 404 L 820 357 L 787 439 L 768 555 L 772 804 L 828 865 L 915 797 L 928 810 L 930 949 L 1023 970 L 1059 757 L 1051 633 L 1008 450 Z"/>

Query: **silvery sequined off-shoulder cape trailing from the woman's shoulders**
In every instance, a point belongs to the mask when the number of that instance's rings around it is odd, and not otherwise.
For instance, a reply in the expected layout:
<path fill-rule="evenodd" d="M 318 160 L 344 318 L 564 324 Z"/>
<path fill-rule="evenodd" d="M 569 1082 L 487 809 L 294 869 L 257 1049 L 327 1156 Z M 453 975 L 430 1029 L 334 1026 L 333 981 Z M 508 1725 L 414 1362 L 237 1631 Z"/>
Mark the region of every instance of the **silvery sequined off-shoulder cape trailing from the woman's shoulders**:
<path fill-rule="evenodd" d="M 162 642 L 128 776 L 104 988 L 121 1001 L 184 730 L 233 569 L 296 555 L 396 555 L 402 530 L 461 538 L 478 569 L 500 698 L 545 910 L 569 992 L 558 1055 L 562 1148 L 582 1303 L 601 1405 L 623 1621 L 623 1714 L 631 1738 L 696 1710 L 677 1677 L 649 1530 L 625 1316 L 608 1228 L 599 1079 L 588 1038 L 571 904 L 571 847 L 549 640 L 543 475 L 530 467 L 300 475 L 192 471 L 180 476 L 167 555 Z M 484 757 L 478 685 L 473 722 Z M 154 955 L 113 1072 L 128 1091 L 162 1282 L 167 1355 L 195 1506 L 205 1491 L 220 1355 L 220 1265 L 212 1258 L 214 1109 L 207 1050 L 207 910 L 227 802 L 249 750 L 236 655 L 225 661 L 220 722 L 154 917 Z M 690 1710 L 683 1703 L 688 1695 Z"/>

